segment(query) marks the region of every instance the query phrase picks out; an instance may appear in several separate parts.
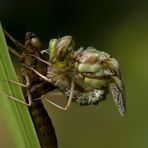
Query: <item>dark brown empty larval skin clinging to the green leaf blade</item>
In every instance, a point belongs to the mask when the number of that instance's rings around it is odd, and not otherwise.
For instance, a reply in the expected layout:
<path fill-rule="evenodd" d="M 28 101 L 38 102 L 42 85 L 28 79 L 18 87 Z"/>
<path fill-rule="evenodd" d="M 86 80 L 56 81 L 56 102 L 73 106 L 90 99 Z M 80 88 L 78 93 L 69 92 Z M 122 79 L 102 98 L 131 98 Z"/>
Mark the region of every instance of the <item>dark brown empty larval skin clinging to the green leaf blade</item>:
<path fill-rule="evenodd" d="M 32 68 L 40 71 L 43 75 L 47 73 L 46 64 L 29 56 L 29 54 L 33 54 L 37 57 L 42 58 L 40 52 L 41 50 L 43 50 L 43 47 L 41 41 L 34 33 L 26 33 L 25 45 L 19 43 L 7 31 L 4 30 L 4 33 L 5 36 L 8 37 L 18 49 L 23 50 L 22 54 L 19 54 L 12 47 L 9 47 L 9 50 L 20 60 L 21 64 L 29 65 Z M 48 116 L 48 113 L 45 110 L 42 101 L 40 99 L 36 100 L 46 92 L 53 90 L 54 87 L 51 84 L 45 82 L 41 77 L 39 77 L 33 71 L 27 69 L 24 66 L 22 66 L 21 68 L 21 74 L 23 83 L 18 83 L 13 80 L 8 81 L 21 85 L 25 88 L 23 92 L 27 102 L 22 102 L 13 96 L 7 96 L 29 107 L 30 115 L 32 117 L 41 147 L 57 148 L 58 146 L 56 134 L 51 119 Z"/>

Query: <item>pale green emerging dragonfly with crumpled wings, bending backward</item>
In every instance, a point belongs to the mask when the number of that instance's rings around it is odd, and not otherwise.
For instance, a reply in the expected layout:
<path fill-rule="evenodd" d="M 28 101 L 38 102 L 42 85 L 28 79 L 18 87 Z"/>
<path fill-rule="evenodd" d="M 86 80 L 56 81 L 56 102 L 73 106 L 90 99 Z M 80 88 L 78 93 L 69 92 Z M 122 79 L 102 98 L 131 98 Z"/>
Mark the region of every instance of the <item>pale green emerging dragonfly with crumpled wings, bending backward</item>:
<path fill-rule="evenodd" d="M 62 107 L 44 96 L 43 99 L 67 110 L 72 101 L 81 106 L 97 105 L 111 92 L 121 116 L 125 115 L 125 89 L 119 63 L 115 58 L 93 47 L 75 50 L 71 36 L 50 40 L 48 52 L 48 62 L 32 55 L 48 65 L 46 76 L 32 67 L 24 66 L 56 86 L 68 101 Z"/>

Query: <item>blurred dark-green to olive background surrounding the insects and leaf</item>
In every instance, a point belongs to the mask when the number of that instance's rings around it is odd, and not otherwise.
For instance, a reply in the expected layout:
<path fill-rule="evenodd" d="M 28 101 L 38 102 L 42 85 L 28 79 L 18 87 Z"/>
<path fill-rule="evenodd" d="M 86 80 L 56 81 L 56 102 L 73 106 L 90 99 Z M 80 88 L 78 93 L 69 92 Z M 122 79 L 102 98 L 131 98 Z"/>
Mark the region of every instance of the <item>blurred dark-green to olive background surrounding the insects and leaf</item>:
<path fill-rule="evenodd" d="M 147 1 L 5 0 L 0 1 L 0 21 L 22 43 L 27 31 L 35 32 L 46 48 L 49 39 L 72 35 L 76 48 L 94 46 L 120 62 L 126 116 L 120 117 L 111 95 L 98 106 L 73 103 L 67 112 L 46 104 L 59 148 L 148 147 Z M 0 147 L 12 148 L 5 113 L 0 115 Z"/>

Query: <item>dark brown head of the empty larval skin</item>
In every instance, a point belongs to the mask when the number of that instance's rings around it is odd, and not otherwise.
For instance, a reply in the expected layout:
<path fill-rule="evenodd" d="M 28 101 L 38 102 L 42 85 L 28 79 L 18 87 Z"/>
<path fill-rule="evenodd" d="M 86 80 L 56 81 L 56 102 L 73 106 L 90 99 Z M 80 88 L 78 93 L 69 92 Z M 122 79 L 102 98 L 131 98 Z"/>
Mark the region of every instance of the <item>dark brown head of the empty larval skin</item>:
<path fill-rule="evenodd" d="M 33 32 L 27 32 L 25 35 L 25 49 L 29 52 L 40 52 L 42 44 L 39 38 Z"/>

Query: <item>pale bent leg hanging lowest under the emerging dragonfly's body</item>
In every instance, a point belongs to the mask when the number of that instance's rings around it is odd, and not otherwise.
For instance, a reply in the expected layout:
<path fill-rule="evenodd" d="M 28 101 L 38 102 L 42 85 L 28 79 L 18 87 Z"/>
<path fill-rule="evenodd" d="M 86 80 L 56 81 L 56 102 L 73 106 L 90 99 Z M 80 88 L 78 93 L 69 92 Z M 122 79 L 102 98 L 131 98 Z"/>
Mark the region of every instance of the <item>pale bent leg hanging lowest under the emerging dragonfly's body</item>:
<path fill-rule="evenodd" d="M 71 102 L 72 102 L 72 98 L 73 98 L 73 92 L 74 92 L 74 79 L 72 80 L 71 82 L 71 88 L 70 88 L 70 94 L 69 94 L 69 98 L 68 98 L 68 101 L 67 101 L 67 104 L 65 107 L 62 107 L 54 102 L 52 102 L 51 100 L 47 99 L 45 96 L 42 96 L 42 99 L 46 100 L 47 102 L 51 103 L 52 105 L 54 105 L 55 107 L 61 109 L 61 110 L 67 110 L 70 105 L 71 105 Z"/>

